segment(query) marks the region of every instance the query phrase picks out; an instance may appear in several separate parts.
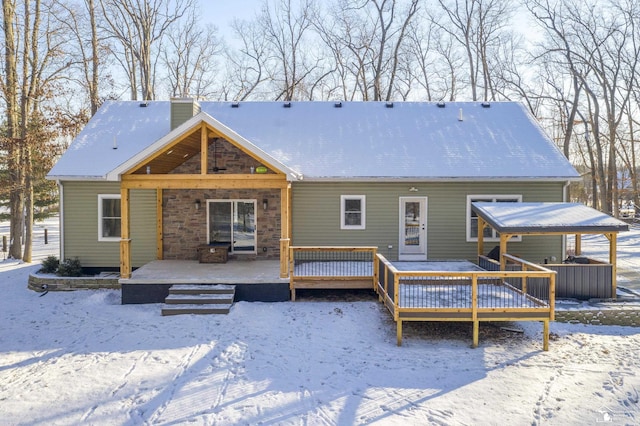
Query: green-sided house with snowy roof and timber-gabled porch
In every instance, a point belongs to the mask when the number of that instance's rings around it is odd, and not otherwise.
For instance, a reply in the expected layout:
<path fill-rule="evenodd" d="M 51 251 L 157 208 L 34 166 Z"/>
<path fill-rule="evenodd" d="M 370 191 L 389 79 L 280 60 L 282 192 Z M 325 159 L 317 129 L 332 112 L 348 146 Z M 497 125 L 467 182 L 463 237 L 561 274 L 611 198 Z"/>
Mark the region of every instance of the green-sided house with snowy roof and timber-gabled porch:
<path fill-rule="evenodd" d="M 173 99 L 106 102 L 48 178 L 61 257 L 128 278 L 216 244 L 281 276 L 292 245 L 476 260 L 473 201 L 566 201 L 579 175 L 519 103 Z M 510 249 L 542 262 L 563 241 Z"/>

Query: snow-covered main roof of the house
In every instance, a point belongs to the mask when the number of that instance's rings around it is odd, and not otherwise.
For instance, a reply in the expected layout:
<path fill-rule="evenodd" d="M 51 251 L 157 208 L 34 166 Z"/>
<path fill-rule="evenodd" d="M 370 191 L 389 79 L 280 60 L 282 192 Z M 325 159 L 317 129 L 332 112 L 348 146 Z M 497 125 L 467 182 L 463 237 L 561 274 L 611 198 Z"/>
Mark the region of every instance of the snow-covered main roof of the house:
<path fill-rule="evenodd" d="M 305 179 L 579 177 L 519 103 L 339 104 L 200 103 L 203 112 Z M 166 136 L 169 115 L 169 101 L 146 108 L 139 102 L 105 103 L 49 177 L 104 179 Z"/>

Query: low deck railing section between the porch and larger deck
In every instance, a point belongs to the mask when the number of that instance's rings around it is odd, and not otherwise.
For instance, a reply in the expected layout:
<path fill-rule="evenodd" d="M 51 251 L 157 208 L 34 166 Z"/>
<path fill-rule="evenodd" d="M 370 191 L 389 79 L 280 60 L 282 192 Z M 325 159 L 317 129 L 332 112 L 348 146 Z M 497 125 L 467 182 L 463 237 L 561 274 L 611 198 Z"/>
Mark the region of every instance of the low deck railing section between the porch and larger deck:
<path fill-rule="evenodd" d="M 289 289 L 375 289 L 377 247 L 289 248 Z"/>

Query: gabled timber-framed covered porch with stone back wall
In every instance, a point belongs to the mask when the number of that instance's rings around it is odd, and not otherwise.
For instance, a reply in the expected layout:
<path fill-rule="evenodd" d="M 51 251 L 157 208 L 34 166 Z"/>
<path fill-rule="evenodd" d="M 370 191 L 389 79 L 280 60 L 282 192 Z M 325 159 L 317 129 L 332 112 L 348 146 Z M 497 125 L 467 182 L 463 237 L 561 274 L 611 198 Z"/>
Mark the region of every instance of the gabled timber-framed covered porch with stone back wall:
<path fill-rule="evenodd" d="M 297 175 L 211 116 L 196 114 L 113 173 L 120 181 L 123 280 L 135 279 L 141 265 L 132 262 L 131 216 L 139 214 L 132 192 L 149 190 L 156 193 L 155 236 L 137 238 L 155 239 L 152 258 L 194 261 L 226 248 L 234 261 L 279 260 L 274 277 L 287 276 Z M 210 260 L 226 262 L 224 254 Z"/>

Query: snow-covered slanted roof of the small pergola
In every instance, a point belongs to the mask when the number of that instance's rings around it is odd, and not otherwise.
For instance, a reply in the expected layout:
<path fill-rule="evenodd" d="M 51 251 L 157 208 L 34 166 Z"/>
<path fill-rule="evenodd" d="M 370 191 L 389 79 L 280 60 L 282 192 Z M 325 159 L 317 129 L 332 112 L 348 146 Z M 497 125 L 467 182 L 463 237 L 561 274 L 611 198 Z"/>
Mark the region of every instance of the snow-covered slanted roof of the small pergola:
<path fill-rule="evenodd" d="M 580 203 L 474 202 L 471 208 L 500 233 L 604 233 L 628 231 L 629 225 Z"/>

